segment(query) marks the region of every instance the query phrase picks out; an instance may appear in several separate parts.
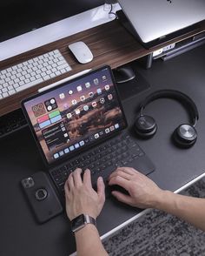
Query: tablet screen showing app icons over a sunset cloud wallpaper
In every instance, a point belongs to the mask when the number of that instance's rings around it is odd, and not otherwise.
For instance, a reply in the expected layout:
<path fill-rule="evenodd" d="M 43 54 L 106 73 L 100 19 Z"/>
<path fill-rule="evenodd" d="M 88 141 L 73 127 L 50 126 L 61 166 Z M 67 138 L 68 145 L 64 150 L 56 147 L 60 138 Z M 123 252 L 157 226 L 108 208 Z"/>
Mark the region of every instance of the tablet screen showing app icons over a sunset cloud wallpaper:
<path fill-rule="evenodd" d="M 109 66 L 25 99 L 22 105 L 48 164 L 126 126 Z"/>

